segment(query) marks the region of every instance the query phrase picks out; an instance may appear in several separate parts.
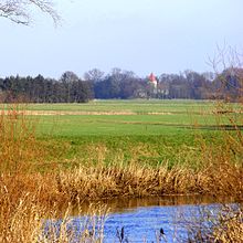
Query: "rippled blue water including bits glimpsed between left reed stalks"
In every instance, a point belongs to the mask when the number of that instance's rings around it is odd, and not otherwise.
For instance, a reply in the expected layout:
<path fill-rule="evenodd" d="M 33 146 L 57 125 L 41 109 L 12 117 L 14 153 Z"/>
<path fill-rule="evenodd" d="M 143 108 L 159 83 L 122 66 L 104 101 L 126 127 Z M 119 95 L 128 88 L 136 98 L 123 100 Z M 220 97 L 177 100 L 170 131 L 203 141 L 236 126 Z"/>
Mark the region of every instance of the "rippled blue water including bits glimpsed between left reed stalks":
<path fill-rule="evenodd" d="M 190 229 L 199 226 L 204 231 L 210 230 L 211 221 L 208 219 L 209 216 L 211 220 L 213 216 L 216 218 L 222 204 L 133 205 L 122 208 L 118 209 L 119 212 L 113 210 L 105 221 L 105 243 L 119 243 L 118 234 L 120 236 L 122 228 L 124 229 L 123 242 L 187 242 Z M 78 242 L 77 239 L 83 231 L 84 222 L 84 216 L 71 218 L 67 230 L 72 230 L 76 236 L 70 242 Z M 56 234 L 59 234 L 62 220 L 45 221 L 45 232 L 53 223 L 55 224 Z M 163 230 L 165 234 L 160 234 L 160 229 Z M 99 229 L 96 229 L 96 233 L 98 231 Z"/>

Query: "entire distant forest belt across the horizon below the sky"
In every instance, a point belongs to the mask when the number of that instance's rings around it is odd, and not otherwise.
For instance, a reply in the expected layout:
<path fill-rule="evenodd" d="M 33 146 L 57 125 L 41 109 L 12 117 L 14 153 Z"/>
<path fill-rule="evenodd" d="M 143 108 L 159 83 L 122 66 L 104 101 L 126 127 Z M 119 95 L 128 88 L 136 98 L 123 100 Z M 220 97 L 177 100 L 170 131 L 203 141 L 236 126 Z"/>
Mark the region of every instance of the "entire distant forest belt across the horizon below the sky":
<path fill-rule="evenodd" d="M 155 87 L 148 77 L 134 72 L 113 68 L 109 74 L 94 68 L 80 78 L 65 72 L 59 80 L 27 76 L 0 78 L 0 102 L 85 103 L 94 98 L 187 98 L 215 99 L 242 97 L 243 70 L 228 68 L 221 74 L 184 71 L 180 74 L 157 76 Z"/>

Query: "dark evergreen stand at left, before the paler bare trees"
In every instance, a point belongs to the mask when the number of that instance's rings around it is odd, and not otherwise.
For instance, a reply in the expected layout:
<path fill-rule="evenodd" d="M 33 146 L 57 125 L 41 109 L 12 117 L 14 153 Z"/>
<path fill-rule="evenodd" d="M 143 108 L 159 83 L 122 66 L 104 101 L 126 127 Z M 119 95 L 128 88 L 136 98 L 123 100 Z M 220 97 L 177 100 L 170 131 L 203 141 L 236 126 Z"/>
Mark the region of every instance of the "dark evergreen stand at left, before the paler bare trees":
<path fill-rule="evenodd" d="M 3 103 L 85 103 L 92 98 L 91 83 L 80 80 L 73 72 L 65 72 L 59 81 L 42 75 L 0 78 L 0 101 Z"/>

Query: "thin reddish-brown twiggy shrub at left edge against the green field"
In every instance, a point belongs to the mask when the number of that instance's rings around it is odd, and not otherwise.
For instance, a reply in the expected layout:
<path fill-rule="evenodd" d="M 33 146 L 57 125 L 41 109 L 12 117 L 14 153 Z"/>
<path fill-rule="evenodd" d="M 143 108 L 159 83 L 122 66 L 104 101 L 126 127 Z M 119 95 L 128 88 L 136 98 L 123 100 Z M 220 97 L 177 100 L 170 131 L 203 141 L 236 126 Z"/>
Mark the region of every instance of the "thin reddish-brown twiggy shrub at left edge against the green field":
<path fill-rule="evenodd" d="M 22 105 L 23 106 L 23 105 Z M 35 120 L 19 104 L 2 105 L 0 112 L 0 171 L 18 172 L 30 169 L 41 158 L 35 139 Z"/>

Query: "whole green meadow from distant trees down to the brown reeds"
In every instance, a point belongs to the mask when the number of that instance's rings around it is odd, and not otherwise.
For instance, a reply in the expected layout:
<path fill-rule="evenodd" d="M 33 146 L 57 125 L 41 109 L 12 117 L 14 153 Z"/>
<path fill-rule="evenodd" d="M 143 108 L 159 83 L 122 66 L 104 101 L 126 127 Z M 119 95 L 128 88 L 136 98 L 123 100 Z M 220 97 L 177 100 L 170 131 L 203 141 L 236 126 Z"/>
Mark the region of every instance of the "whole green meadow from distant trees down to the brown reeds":
<path fill-rule="evenodd" d="M 49 160 L 77 163 L 197 163 L 203 142 L 220 142 L 219 124 L 243 118 L 236 104 L 226 107 L 235 113 L 218 115 L 214 103 L 201 101 L 95 101 L 28 109 Z"/>

